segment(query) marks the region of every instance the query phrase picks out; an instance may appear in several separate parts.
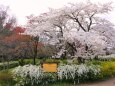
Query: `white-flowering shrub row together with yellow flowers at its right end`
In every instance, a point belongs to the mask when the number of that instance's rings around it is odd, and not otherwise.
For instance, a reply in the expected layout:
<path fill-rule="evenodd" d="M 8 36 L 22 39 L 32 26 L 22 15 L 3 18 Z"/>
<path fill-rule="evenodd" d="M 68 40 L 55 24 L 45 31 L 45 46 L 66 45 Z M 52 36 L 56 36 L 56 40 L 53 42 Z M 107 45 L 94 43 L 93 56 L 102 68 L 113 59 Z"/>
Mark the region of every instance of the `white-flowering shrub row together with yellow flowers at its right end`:
<path fill-rule="evenodd" d="M 60 64 L 57 73 L 46 73 L 40 66 L 25 65 L 13 69 L 19 86 L 52 86 L 54 83 L 81 83 L 115 75 L 114 61 L 90 61 L 86 64 Z M 67 84 L 68 85 L 68 84 Z"/>

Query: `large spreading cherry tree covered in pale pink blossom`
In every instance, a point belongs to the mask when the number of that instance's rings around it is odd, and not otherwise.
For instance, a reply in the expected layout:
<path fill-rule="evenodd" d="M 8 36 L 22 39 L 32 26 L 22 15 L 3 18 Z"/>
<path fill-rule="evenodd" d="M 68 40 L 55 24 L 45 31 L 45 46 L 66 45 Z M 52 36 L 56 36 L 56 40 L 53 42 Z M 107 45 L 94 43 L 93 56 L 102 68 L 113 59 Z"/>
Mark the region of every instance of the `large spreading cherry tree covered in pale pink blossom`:
<path fill-rule="evenodd" d="M 71 3 L 30 16 L 25 33 L 58 46 L 57 57 L 105 54 L 105 49 L 115 44 L 114 25 L 103 17 L 111 10 L 111 3 Z"/>

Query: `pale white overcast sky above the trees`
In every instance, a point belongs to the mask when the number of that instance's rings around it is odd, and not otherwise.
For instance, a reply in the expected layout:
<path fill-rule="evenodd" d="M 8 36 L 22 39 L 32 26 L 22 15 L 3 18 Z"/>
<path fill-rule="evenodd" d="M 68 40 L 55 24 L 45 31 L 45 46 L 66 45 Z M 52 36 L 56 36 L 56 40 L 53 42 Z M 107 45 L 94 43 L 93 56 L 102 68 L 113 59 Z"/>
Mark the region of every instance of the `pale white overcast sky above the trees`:
<path fill-rule="evenodd" d="M 85 1 L 85 0 L 79 0 Z M 97 2 L 109 2 L 110 0 L 90 0 L 94 3 Z M 113 6 L 115 5 L 115 0 L 111 0 Z M 26 16 L 31 14 L 39 15 L 48 11 L 48 8 L 60 8 L 69 2 L 78 2 L 78 0 L 0 0 L 0 4 L 9 6 L 11 13 L 13 13 L 19 25 L 26 24 Z M 111 22 L 115 24 L 115 9 L 107 16 Z"/>

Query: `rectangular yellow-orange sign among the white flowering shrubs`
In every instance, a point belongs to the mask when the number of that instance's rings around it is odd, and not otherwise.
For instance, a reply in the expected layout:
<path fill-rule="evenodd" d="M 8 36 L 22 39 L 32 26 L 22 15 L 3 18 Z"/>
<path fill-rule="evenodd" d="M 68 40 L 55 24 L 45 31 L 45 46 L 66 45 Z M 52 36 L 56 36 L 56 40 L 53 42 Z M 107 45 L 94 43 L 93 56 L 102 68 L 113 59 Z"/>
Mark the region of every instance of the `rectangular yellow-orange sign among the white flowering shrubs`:
<path fill-rule="evenodd" d="M 42 66 L 45 72 L 57 72 L 57 63 L 43 63 Z"/>

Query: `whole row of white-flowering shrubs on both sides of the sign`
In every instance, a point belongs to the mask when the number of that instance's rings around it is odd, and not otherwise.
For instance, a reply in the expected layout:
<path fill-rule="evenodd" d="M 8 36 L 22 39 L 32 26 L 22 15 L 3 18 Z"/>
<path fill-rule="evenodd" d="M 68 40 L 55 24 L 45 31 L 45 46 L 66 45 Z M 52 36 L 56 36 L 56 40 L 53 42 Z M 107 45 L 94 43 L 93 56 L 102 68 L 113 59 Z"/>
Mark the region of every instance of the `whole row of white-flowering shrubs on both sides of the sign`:
<path fill-rule="evenodd" d="M 72 82 L 96 78 L 100 74 L 100 67 L 96 65 L 63 65 L 59 66 L 56 73 L 46 73 L 41 66 L 25 65 L 13 70 L 14 80 L 19 86 L 36 86 L 60 80 Z"/>

